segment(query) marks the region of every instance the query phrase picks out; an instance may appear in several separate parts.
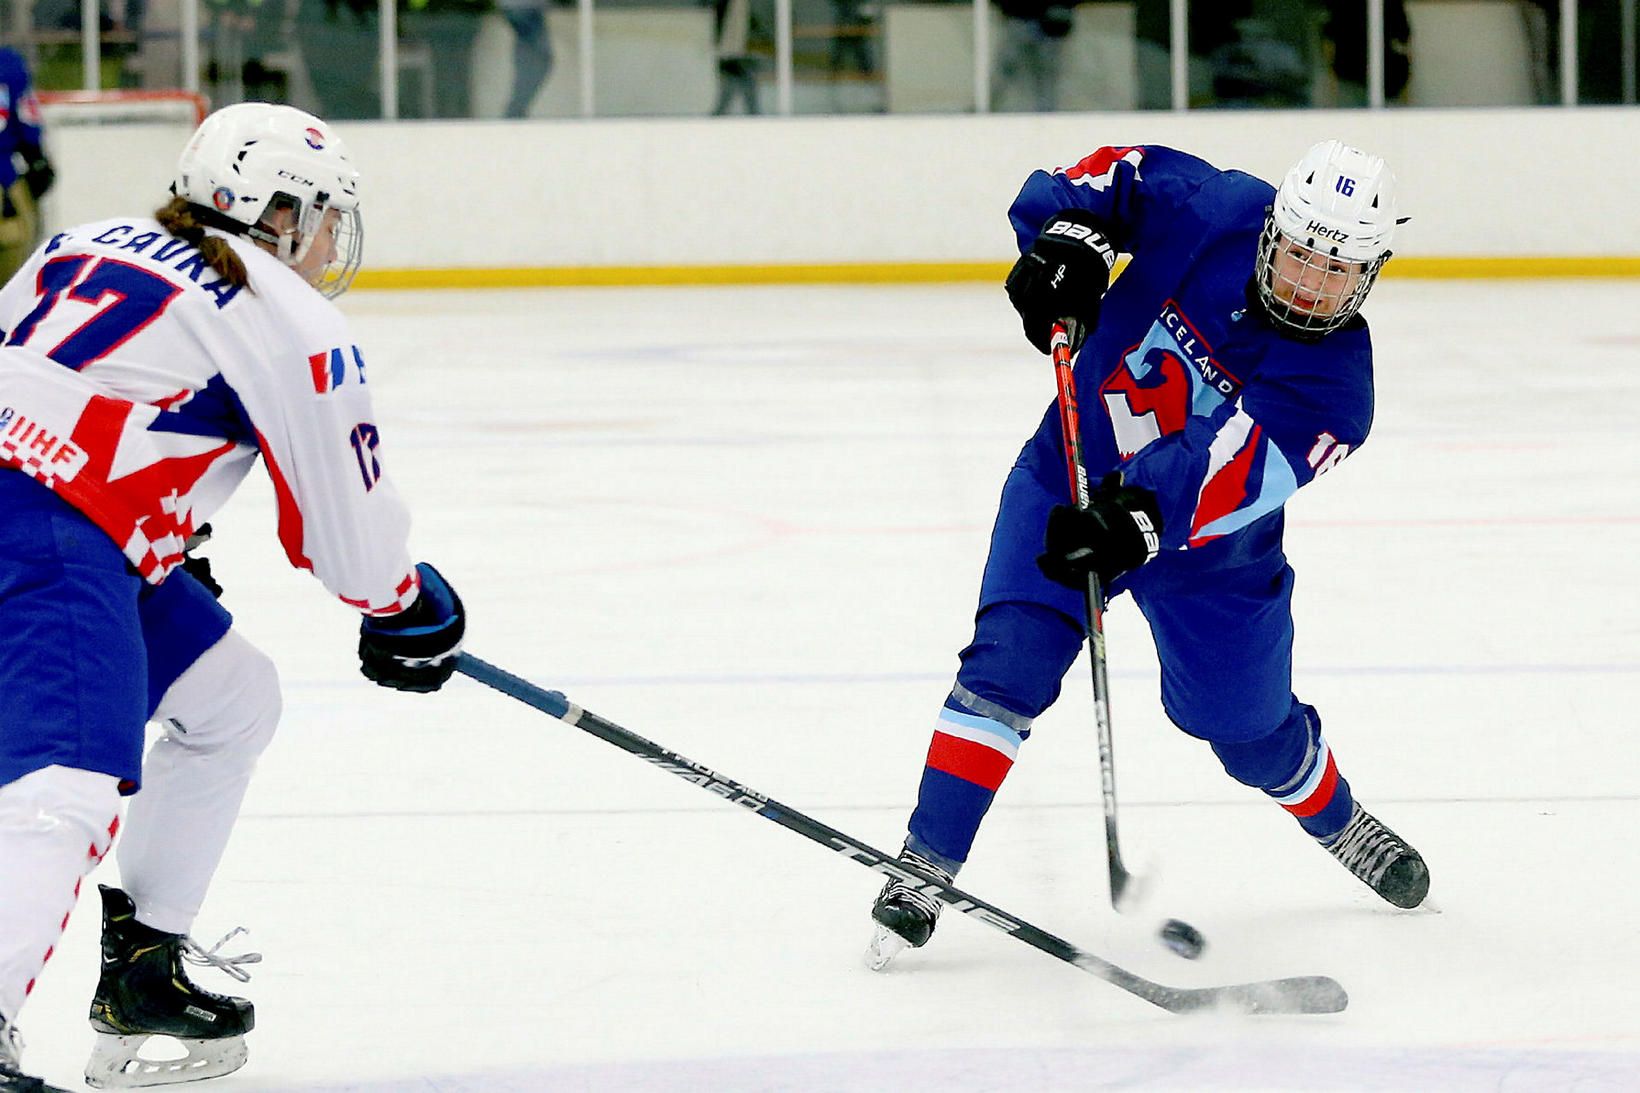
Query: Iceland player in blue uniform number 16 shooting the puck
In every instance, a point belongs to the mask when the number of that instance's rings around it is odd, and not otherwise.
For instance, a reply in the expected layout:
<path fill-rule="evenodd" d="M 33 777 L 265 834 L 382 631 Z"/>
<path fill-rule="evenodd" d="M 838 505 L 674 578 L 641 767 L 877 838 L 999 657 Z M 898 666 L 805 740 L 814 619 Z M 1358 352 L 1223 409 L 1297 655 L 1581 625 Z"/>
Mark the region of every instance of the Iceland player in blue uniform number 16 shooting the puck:
<path fill-rule="evenodd" d="M 1082 648 L 1094 569 L 1150 624 L 1173 722 L 1386 901 L 1424 901 L 1424 858 L 1355 801 L 1320 717 L 1292 694 L 1281 545 L 1287 497 L 1373 423 L 1358 312 L 1389 258 L 1394 190 L 1383 159 L 1338 141 L 1305 153 L 1279 189 L 1159 146 L 1102 148 L 1025 181 L 1009 210 L 1022 256 L 1007 292 L 1036 350 L 1061 318 L 1086 335 L 1082 453 L 1100 486 L 1087 510 L 1071 504 L 1051 407 L 1002 487 L 974 638 L 904 860 L 940 878 L 968 860 Z M 1117 253 L 1132 261 L 1110 284 Z M 938 911 L 889 881 L 872 906 L 872 967 L 925 944 Z"/>

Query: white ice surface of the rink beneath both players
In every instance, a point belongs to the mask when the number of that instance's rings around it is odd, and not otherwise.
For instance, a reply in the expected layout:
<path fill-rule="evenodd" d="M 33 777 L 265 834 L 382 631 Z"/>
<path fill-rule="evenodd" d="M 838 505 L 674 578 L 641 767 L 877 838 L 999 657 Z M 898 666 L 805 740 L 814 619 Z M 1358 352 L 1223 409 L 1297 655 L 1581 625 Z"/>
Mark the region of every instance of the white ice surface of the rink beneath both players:
<path fill-rule="evenodd" d="M 1053 397 L 1000 287 L 344 310 L 476 653 L 897 845 L 1002 476 Z M 1150 978 L 1323 973 L 1346 1013 L 1173 1018 L 954 916 L 872 975 L 866 870 L 471 681 L 364 683 L 256 474 L 210 555 L 287 712 L 197 927 L 266 954 L 251 1063 L 215 1088 L 1640 1086 L 1635 286 L 1391 279 L 1368 315 L 1373 440 L 1289 505 L 1296 686 L 1428 858 L 1432 909 L 1381 904 L 1166 724 L 1125 601 L 1123 850 L 1207 954 L 1105 904 L 1086 665 L 961 878 Z M 72 1088 L 95 937 L 87 898 L 21 1021 Z"/>

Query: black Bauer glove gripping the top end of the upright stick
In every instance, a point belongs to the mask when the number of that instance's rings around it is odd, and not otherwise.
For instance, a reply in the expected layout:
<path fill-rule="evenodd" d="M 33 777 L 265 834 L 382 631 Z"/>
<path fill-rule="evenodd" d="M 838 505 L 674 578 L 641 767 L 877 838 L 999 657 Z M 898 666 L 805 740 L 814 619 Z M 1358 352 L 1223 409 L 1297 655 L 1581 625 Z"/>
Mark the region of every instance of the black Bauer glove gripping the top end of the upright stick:
<path fill-rule="evenodd" d="M 1074 353 L 1099 323 L 1099 302 L 1110 287 L 1117 253 L 1086 208 L 1064 208 L 1048 218 L 1041 235 L 1020 254 L 1004 287 L 1025 325 L 1025 338 L 1048 353 L 1053 323 L 1074 318 Z"/>

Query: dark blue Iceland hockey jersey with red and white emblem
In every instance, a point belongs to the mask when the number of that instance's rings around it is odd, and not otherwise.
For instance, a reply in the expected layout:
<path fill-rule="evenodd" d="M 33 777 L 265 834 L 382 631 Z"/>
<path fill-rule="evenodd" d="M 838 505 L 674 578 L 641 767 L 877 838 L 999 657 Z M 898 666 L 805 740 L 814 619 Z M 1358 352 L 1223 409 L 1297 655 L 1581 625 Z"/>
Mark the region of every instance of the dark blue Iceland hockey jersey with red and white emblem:
<path fill-rule="evenodd" d="M 1076 363 L 1092 481 L 1122 469 L 1155 491 L 1161 563 L 1237 565 L 1279 551 L 1281 505 L 1356 450 L 1373 422 L 1373 350 L 1360 317 L 1314 341 L 1284 336 L 1253 290 L 1274 187 L 1161 146 L 1102 148 L 1036 171 L 1009 210 L 1020 249 L 1061 208 L 1094 213 L 1132 261 Z M 1050 407 L 1022 455 L 1068 501 Z"/>

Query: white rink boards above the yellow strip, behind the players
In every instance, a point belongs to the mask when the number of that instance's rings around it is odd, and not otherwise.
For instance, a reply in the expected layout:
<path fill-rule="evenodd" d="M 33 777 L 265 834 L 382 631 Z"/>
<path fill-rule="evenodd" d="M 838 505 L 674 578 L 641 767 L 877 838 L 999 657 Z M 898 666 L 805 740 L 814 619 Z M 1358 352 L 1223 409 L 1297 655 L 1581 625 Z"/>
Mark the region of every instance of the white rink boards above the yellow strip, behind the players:
<path fill-rule="evenodd" d="M 1409 256 L 1637 256 L 1640 112 L 1391 110 L 354 121 L 372 269 L 1004 261 L 1038 166 L 1168 143 L 1278 177 L 1327 136 L 1389 158 Z M 64 128 L 48 208 L 156 205 L 184 135 Z"/>

